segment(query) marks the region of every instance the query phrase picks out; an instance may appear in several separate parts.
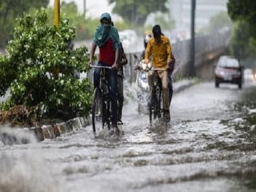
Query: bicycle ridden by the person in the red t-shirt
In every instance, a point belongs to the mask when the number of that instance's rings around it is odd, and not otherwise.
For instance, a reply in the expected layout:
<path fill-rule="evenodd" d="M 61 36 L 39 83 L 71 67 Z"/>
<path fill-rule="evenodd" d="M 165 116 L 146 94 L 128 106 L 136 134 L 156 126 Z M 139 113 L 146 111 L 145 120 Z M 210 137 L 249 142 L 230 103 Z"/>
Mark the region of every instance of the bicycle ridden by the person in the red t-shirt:
<path fill-rule="evenodd" d="M 92 66 L 100 68 L 100 86 L 94 89 L 94 100 L 92 102 L 92 131 L 96 134 L 96 129 L 102 130 L 107 125 L 110 129 L 110 97 L 109 88 L 106 81 L 106 69 L 113 69 L 105 66 Z"/>

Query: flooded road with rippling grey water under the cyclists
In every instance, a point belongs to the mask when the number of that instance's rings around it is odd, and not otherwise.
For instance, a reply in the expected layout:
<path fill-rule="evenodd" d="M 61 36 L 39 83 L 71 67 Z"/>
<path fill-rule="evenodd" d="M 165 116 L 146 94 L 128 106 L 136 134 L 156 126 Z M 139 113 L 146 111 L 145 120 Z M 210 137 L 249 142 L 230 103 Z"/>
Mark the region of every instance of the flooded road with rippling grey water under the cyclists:
<path fill-rule="evenodd" d="M 171 123 L 136 103 L 123 137 L 92 127 L 19 146 L 0 142 L 0 191 L 256 191 L 256 85 L 197 84 L 175 94 Z"/>

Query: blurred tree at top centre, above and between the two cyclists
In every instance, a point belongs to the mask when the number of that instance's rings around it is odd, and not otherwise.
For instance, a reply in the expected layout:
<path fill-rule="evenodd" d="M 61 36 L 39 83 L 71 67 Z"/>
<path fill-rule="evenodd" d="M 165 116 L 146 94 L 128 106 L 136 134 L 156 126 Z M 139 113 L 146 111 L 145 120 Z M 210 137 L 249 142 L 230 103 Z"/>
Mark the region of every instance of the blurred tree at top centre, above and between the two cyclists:
<path fill-rule="evenodd" d="M 155 11 L 168 11 L 166 3 L 168 0 L 108 0 L 114 3 L 114 13 L 121 15 L 125 20 L 135 24 L 143 25 L 148 15 Z"/>

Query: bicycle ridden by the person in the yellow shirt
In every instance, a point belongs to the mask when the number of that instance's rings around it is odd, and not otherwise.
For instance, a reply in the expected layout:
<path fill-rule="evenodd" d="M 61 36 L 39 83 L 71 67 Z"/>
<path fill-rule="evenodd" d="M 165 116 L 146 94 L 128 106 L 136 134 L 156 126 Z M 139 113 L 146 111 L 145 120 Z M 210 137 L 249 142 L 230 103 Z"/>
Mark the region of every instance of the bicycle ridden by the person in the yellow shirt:
<path fill-rule="evenodd" d="M 164 71 L 166 69 L 158 69 L 152 68 L 149 71 Z M 152 117 L 153 119 L 161 119 L 162 118 L 162 82 L 159 77 L 154 80 L 154 85 L 151 88 L 150 92 L 150 101 L 149 101 L 149 116 L 150 116 L 150 125 L 152 125 Z"/>

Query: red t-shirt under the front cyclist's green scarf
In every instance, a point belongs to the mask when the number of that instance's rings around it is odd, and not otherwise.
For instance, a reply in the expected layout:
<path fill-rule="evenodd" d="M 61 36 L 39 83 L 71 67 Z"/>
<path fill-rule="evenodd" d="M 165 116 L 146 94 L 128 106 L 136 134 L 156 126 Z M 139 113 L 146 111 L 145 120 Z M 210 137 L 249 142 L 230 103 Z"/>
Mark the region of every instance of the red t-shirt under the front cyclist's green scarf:
<path fill-rule="evenodd" d="M 115 62 L 115 50 L 113 49 L 113 40 L 110 38 L 100 47 L 100 61 L 106 65 L 112 66 Z"/>

